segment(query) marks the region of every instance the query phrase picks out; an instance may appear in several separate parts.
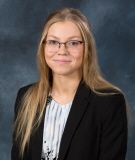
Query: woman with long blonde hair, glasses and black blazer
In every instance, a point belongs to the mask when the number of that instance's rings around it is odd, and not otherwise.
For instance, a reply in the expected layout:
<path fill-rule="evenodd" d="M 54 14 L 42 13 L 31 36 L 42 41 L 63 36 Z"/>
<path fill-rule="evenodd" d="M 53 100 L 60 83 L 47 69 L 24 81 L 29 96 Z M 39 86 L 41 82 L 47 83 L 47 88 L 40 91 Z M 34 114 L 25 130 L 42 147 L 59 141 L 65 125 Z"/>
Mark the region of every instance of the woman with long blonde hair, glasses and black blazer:
<path fill-rule="evenodd" d="M 48 17 L 37 59 L 39 81 L 16 99 L 12 160 L 125 160 L 125 99 L 103 78 L 79 10 Z"/>

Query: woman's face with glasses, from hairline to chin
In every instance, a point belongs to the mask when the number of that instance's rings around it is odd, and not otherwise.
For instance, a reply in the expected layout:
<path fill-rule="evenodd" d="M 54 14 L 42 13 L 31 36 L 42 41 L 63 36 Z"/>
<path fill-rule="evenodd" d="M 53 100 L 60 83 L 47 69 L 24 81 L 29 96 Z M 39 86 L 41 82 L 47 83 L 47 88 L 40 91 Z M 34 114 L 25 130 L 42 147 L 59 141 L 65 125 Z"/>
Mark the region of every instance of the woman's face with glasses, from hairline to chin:
<path fill-rule="evenodd" d="M 59 44 L 68 42 L 66 45 Z M 48 30 L 45 60 L 53 75 L 81 76 L 84 45 L 77 25 L 71 21 L 56 22 Z"/>

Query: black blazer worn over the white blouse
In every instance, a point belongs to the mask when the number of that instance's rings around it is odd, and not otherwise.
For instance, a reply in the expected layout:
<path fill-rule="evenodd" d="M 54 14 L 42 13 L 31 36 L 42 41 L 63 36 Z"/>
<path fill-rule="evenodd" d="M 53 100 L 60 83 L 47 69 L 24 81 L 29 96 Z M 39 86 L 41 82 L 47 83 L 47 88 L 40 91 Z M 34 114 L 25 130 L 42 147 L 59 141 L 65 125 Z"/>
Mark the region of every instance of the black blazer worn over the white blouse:
<path fill-rule="evenodd" d="M 29 86 L 19 90 L 19 103 Z M 112 92 L 112 90 L 102 90 Z M 43 120 L 30 138 L 23 160 L 41 160 Z M 127 151 L 127 113 L 124 96 L 99 96 L 80 83 L 62 135 L 58 160 L 125 160 Z M 20 160 L 19 147 L 13 138 L 12 160 Z"/>

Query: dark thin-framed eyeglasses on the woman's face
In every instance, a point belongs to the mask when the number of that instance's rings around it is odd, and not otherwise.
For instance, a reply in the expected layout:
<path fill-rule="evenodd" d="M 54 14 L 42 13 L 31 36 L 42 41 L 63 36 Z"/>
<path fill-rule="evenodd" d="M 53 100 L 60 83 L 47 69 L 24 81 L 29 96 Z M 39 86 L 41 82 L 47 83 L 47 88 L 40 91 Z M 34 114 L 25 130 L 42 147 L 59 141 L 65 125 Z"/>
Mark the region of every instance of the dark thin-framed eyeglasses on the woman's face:
<path fill-rule="evenodd" d="M 50 52 L 57 52 L 61 45 L 63 44 L 67 50 L 76 51 L 79 49 L 80 45 L 84 42 L 78 40 L 70 40 L 67 42 L 59 42 L 56 40 L 46 40 L 45 42 L 46 47 Z"/>

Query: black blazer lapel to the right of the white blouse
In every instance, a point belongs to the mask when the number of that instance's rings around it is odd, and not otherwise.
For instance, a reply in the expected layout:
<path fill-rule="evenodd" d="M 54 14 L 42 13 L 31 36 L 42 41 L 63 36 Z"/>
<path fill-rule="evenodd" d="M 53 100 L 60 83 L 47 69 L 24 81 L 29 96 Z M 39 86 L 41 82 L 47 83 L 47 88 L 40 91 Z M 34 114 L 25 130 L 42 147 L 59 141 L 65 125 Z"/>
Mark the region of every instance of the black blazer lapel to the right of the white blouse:
<path fill-rule="evenodd" d="M 86 85 L 81 81 L 72 103 L 71 110 L 69 112 L 69 116 L 62 135 L 58 160 L 64 160 L 65 158 L 66 152 L 72 140 L 72 136 L 78 124 L 80 123 L 84 112 L 87 109 L 90 93 L 90 89 L 86 87 Z"/>

